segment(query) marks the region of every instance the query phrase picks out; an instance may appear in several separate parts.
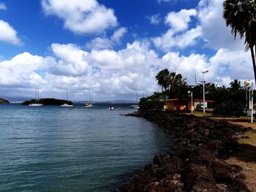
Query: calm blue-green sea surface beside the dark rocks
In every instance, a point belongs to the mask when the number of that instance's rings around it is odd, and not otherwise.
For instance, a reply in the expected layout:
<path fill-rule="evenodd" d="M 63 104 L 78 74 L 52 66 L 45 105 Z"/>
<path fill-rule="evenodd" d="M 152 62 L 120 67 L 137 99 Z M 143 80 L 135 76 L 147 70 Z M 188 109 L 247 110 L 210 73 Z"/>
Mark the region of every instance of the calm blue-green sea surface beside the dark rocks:
<path fill-rule="evenodd" d="M 132 111 L 0 104 L 0 191 L 115 190 L 170 147 Z"/>

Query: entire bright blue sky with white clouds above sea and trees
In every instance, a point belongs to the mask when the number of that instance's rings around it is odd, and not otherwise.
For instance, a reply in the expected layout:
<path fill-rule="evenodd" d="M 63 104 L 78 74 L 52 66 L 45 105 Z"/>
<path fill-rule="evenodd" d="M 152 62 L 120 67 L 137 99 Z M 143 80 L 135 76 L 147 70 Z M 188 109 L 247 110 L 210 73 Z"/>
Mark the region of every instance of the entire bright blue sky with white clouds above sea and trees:
<path fill-rule="evenodd" d="M 252 80 L 223 0 L 0 0 L 0 96 L 135 100 L 162 69 L 189 85 Z"/>

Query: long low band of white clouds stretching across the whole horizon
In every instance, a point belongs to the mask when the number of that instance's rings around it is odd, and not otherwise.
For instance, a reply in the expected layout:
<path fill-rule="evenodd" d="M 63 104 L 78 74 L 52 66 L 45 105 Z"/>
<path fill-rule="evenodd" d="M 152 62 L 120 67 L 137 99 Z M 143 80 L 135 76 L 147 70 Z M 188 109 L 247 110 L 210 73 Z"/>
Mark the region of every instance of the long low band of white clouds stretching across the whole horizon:
<path fill-rule="evenodd" d="M 253 79 L 249 53 L 243 50 L 221 49 L 211 58 L 169 52 L 159 58 L 148 44 L 138 41 L 118 51 L 86 52 L 72 44 L 53 44 L 51 49 L 53 54 L 45 58 L 22 53 L 10 61 L 1 61 L 0 89 L 20 88 L 33 96 L 37 86 L 42 97 L 64 99 L 68 87 L 71 99 L 84 99 L 82 95 L 91 91 L 95 100 L 108 100 L 118 96 L 135 98 L 136 91 L 148 95 L 159 90 L 155 75 L 165 68 L 187 77 L 189 85 L 195 84 L 195 74 L 197 82 L 202 80 L 204 70 L 209 70 L 206 81 L 219 85 L 227 85 L 235 78 Z"/>

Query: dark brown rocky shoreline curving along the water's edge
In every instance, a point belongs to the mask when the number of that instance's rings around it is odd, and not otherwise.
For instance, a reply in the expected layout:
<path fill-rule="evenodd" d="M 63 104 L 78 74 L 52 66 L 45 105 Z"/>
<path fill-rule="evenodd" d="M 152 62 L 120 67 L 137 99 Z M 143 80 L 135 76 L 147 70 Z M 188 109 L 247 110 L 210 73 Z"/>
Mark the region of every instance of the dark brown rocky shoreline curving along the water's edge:
<path fill-rule="evenodd" d="M 155 155 L 153 164 L 136 172 L 118 191 L 249 191 L 241 166 L 225 162 L 249 128 L 158 110 L 129 115 L 146 118 L 173 134 L 175 147 Z"/>

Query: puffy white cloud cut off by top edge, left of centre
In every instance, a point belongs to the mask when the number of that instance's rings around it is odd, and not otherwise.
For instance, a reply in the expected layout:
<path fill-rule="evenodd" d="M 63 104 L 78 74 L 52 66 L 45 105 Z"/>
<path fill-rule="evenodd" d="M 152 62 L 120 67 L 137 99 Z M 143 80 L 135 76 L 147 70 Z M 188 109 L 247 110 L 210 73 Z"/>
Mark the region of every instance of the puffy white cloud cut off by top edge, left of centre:
<path fill-rule="evenodd" d="M 117 26 L 113 9 L 96 0 L 42 0 L 46 15 L 56 15 L 64 20 L 64 28 L 75 34 L 100 33 Z"/>

